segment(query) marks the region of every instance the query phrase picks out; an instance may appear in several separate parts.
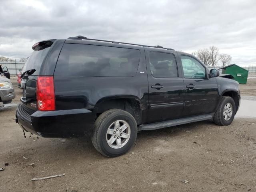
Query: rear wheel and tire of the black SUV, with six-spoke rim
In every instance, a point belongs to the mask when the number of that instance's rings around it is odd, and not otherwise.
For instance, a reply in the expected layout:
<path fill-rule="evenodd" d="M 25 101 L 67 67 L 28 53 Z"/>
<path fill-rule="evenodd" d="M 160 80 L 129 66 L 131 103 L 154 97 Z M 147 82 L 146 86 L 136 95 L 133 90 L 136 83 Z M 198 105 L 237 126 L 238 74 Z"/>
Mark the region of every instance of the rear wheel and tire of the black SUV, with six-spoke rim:
<path fill-rule="evenodd" d="M 124 128 L 125 130 L 121 130 L 122 132 L 120 132 L 120 129 L 118 129 L 117 131 L 118 124 L 119 128 L 122 128 L 122 126 L 123 128 L 126 127 Z M 107 134 L 107 132 L 111 132 L 111 134 Z M 120 156 L 128 152 L 133 146 L 137 132 L 136 120 L 130 113 L 120 109 L 110 109 L 100 114 L 96 119 L 92 134 L 92 144 L 104 156 Z M 114 138 L 114 136 L 116 137 Z M 118 136 L 119 139 L 117 140 Z M 124 136 L 127 139 L 122 138 Z M 113 144 L 111 144 L 112 141 L 114 141 Z"/>

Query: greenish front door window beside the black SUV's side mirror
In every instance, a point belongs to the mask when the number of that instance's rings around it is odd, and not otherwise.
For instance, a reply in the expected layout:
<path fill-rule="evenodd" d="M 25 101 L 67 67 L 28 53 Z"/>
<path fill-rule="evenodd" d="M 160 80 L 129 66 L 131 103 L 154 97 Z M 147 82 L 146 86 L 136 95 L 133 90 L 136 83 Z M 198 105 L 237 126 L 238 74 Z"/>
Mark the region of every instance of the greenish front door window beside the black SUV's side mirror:
<path fill-rule="evenodd" d="M 185 78 L 206 78 L 205 68 L 197 60 L 189 56 L 181 56 L 181 62 Z"/>

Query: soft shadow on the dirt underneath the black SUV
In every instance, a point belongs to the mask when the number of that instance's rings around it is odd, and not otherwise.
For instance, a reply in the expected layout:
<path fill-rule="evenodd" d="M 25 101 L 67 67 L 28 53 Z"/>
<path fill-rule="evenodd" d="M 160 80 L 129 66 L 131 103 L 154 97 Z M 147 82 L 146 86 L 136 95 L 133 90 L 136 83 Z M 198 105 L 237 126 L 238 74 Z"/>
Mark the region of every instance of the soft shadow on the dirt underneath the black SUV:
<path fill-rule="evenodd" d="M 152 131 L 142 131 L 138 133 L 136 143 L 133 148 L 130 150 L 139 150 L 136 147 L 140 148 L 140 146 L 144 145 L 145 142 L 147 143 L 148 147 L 150 148 L 150 142 L 154 140 L 167 140 L 171 141 L 172 138 L 182 138 L 185 136 L 184 134 L 188 134 L 194 131 L 200 132 L 200 130 L 204 128 L 208 128 L 209 126 L 214 126 L 215 124 L 212 121 L 202 121 L 202 122 L 194 122 L 179 126 L 173 126 L 170 128 L 163 128 L 159 130 L 152 130 Z M 215 125 L 216 126 L 216 125 Z M 31 142 L 28 133 L 28 142 Z M 91 137 L 89 135 L 78 137 L 78 138 L 67 138 L 66 141 L 60 140 L 58 138 L 39 138 L 36 139 L 36 136 L 32 135 L 33 140 L 38 140 L 39 145 L 30 145 L 27 150 L 33 151 L 37 150 L 37 153 L 41 153 L 44 155 L 46 153 L 50 153 L 52 158 L 57 158 L 58 156 L 62 156 L 63 158 L 72 155 L 74 158 L 78 156 L 83 156 L 86 160 L 87 158 L 100 160 L 106 158 L 102 156 L 100 153 L 96 151 L 94 146 L 91 142 Z M 149 142 L 150 141 L 150 142 Z M 28 143 L 27 143 L 28 144 Z M 58 153 L 56 153 L 58 151 Z M 38 154 L 39 155 L 39 154 Z"/>

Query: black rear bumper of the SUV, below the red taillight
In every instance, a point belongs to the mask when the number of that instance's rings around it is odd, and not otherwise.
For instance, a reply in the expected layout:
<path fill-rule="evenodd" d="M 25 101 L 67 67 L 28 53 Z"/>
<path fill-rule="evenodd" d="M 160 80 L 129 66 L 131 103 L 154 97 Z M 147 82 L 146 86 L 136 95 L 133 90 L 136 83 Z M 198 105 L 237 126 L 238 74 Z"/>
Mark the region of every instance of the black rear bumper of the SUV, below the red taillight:
<path fill-rule="evenodd" d="M 91 134 L 94 119 L 93 109 L 33 112 L 19 104 L 16 110 L 16 122 L 20 127 L 42 137 L 67 138 Z"/>

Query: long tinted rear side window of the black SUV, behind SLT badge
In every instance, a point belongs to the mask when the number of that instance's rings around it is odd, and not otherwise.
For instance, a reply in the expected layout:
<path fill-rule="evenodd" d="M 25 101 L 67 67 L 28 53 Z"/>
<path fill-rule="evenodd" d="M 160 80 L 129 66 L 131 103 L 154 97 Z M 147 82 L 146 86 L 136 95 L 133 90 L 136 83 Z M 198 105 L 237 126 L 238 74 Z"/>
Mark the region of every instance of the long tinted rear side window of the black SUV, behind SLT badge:
<path fill-rule="evenodd" d="M 56 76 L 135 76 L 140 50 L 85 44 L 64 44 Z"/>

